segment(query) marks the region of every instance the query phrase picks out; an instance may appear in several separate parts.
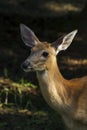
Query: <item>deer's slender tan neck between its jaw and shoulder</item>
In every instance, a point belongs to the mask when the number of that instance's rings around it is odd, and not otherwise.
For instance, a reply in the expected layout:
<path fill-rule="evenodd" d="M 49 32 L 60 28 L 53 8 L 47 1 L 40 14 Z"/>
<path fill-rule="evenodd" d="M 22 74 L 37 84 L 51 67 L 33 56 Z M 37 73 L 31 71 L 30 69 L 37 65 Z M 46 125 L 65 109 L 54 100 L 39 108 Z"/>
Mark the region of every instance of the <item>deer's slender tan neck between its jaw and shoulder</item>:
<path fill-rule="evenodd" d="M 69 105 L 67 81 L 61 75 L 56 62 L 50 67 L 50 69 L 37 72 L 37 77 L 46 102 L 55 110 L 61 110 Z"/>

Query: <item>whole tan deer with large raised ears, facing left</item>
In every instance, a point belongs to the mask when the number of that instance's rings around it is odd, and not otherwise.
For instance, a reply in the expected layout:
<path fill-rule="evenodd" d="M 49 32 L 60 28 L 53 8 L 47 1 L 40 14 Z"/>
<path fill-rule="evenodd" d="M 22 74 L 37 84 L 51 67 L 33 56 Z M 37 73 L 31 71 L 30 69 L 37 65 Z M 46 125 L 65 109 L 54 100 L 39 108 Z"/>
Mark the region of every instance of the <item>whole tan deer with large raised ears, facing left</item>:
<path fill-rule="evenodd" d="M 69 130 L 87 130 L 87 76 L 66 80 L 56 61 L 56 55 L 69 47 L 77 30 L 48 43 L 40 42 L 25 25 L 21 24 L 20 29 L 22 40 L 31 47 L 23 70 L 36 71 L 44 99 L 60 113 Z"/>

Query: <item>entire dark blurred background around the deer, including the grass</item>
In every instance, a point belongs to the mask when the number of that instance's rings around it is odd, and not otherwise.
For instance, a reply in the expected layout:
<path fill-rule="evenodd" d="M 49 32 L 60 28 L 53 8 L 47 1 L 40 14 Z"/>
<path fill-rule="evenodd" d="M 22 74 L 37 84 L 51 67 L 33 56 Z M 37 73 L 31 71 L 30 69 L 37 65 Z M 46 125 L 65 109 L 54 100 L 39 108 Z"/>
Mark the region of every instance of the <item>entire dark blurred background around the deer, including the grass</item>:
<path fill-rule="evenodd" d="M 20 67 L 30 54 L 20 23 L 48 42 L 78 29 L 71 46 L 57 58 L 65 78 L 81 77 L 87 75 L 87 1 L 0 0 L 0 130 L 65 130 L 41 96 L 35 73 Z"/>

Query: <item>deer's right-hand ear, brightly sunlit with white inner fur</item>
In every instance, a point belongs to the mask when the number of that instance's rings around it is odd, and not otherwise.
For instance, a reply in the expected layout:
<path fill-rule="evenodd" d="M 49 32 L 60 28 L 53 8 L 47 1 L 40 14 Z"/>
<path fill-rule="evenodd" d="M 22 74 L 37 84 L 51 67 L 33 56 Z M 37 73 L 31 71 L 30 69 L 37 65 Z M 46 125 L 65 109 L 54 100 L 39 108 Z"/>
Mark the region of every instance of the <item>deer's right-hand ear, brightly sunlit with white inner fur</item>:
<path fill-rule="evenodd" d="M 56 49 L 56 54 L 58 54 L 58 52 L 62 50 L 66 50 L 70 46 L 76 33 L 77 33 L 77 30 L 74 30 L 63 37 L 60 37 L 58 40 L 52 43 L 52 46 L 55 47 Z"/>

